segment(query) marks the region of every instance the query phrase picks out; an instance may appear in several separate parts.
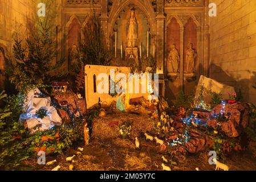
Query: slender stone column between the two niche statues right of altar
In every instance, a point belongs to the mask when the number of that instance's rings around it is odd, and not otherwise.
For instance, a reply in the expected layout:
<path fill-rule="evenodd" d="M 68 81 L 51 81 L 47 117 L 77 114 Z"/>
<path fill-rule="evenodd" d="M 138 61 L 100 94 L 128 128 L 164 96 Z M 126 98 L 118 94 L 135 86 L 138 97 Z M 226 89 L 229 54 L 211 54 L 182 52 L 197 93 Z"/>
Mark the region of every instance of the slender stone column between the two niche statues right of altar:
<path fill-rule="evenodd" d="M 184 91 L 184 27 L 180 27 L 180 86 L 179 90 Z"/>

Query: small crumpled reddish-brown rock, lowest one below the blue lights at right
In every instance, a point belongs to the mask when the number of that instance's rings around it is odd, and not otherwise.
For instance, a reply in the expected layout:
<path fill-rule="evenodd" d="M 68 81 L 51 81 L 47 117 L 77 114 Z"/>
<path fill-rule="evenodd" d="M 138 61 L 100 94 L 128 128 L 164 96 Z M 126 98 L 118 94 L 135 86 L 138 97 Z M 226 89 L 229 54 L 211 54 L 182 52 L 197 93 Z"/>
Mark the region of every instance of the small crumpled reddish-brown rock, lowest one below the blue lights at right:
<path fill-rule="evenodd" d="M 205 150 L 205 138 L 197 137 L 191 138 L 185 144 L 186 150 L 191 154 L 196 154 L 197 152 Z"/>

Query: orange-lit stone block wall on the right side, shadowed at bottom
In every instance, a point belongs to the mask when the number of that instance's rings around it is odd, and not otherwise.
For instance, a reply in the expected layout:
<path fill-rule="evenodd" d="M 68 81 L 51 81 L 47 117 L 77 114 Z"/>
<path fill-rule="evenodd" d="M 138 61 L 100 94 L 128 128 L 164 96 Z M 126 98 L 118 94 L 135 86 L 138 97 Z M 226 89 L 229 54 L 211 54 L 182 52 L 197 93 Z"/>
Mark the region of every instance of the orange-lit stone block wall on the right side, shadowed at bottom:
<path fill-rule="evenodd" d="M 213 1 L 212 1 L 213 2 Z M 214 0 L 210 17 L 210 77 L 241 89 L 256 104 L 256 1 Z"/>

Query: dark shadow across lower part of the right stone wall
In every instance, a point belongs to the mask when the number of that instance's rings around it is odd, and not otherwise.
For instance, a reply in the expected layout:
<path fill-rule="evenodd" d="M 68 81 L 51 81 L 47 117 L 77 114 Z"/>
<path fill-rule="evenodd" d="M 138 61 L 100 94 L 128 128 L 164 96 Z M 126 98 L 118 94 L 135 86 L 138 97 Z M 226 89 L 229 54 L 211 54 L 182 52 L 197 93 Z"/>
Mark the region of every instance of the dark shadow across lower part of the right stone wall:
<path fill-rule="evenodd" d="M 242 101 L 256 104 L 256 89 L 253 88 L 253 85 L 256 83 L 256 71 L 247 70 L 246 74 L 250 75 L 249 79 L 239 79 L 242 77 L 239 73 L 228 73 L 218 65 L 210 65 L 210 78 L 223 84 L 234 86 L 235 92 L 241 91 Z M 235 80 L 234 77 L 237 77 L 239 80 Z M 250 90 L 252 91 L 250 92 Z"/>

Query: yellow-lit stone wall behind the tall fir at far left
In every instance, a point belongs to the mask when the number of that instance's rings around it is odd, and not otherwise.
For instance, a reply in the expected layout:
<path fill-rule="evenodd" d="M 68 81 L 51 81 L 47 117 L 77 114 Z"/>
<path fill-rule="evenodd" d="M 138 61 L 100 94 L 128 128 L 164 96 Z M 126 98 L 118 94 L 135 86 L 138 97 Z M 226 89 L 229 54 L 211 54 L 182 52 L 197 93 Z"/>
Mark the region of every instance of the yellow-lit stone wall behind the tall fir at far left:
<path fill-rule="evenodd" d="M 46 14 L 50 12 L 52 14 L 51 16 L 54 17 L 52 18 L 52 35 L 54 38 L 56 37 L 55 26 L 61 24 L 62 0 L 51 1 L 51 3 L 47 3 L 47 1 L 48 0 L 0 1 L 0 49 L 1 52 L 4 52 L 5 64 L 8 57 L 10 60 L 14 60 L 13 44 L 15 36 L 18 35 L 18 38 L 20 40 L 22 39 L 23 44 L 25 44 L 27 35 L 34 30 L 39 10 L 37 6 L 40 2 L 46 4 Z M 49 5 L 51 5 L 51 11 L 49 10 Z M 0 59 L 0 67 L 2 70 L 3 61 L 1 60 L 2 59 Z M 53 60 L 52 63 L 55 64 L 55 60 Z M 3 86 L 5 77 L 3 76 L 4 73 L 0 74 L 0 90 L 3 90 L 6 89 Z"/>

